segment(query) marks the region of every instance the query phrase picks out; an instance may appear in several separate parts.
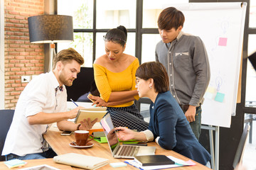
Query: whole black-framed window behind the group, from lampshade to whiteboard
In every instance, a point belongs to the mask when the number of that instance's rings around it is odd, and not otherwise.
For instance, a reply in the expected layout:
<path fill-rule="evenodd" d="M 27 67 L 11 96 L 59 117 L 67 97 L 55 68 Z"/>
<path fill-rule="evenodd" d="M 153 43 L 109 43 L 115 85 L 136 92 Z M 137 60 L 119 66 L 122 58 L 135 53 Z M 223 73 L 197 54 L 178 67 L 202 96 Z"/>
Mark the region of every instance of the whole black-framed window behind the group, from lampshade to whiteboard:
<path fill-rule="evenodd" d="M 142 21 L 138 21 L 139 17 L 136 16 L 137 4 L 140 3 L 143 4 L 139 6 L 143 8 L 143 16 L 146 16 L 142 18 Z M 68 0 L 58 0 L 58 14 L 73 16 L 74 42 L 58 43 L 57 50 L 59 52 L 73 47 L 84 57 L 83 66 L 92 67 L 94 60 L 105 54 L 102 36 L 107 30 L 122 25 L 128 30 L 125 52 L 138 57 L 141 62 L 154 61 L 154 48 L 161 40 L 157 30 L 157 18 L 162 8 L 174 3 L 176 3 L 174 0 L 144 0 L 143 2 L 138 0 L 75 0 L 72 3 Z M 188 3 L 188 0 L 182 0 L 179 3 Z M 94 6 L 96 6 L 95 18 L 93 18 Z M 141 22 L 142 28 L 139 28 L 137 23 Z M 144 33 L 143 31 L 148 31 L 148 28 L 154 28 L 153 32 Z M 137 33 L 139 29 L 142 29 L 141 35 Z M 142 46 L 136 43 L 136 40 L 140 38 Z"/>

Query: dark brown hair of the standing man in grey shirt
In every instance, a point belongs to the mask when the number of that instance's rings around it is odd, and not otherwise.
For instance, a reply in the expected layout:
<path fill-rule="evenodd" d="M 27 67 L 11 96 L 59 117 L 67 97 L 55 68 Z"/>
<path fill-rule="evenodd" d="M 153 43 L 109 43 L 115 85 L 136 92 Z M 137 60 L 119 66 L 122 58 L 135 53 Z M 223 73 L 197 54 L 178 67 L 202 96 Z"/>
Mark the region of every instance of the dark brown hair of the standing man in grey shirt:
<path fill-rule="evenodd" d="M 171 28 L 178 29 L 179 26 L 183 27 L 185 17 L 181 11 L 174 7 L 165 8 L 159 14 L 157 24 L 161 30 L 171 30 Z"/>

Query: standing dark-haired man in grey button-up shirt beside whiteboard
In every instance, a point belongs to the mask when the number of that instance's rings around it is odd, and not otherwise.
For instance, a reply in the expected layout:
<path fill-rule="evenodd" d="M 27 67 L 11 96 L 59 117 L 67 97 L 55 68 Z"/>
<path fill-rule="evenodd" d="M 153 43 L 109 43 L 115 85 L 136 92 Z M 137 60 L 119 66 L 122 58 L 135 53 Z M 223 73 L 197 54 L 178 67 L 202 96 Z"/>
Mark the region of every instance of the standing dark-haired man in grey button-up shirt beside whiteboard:
<path fill-rule="evenodd" d="M 156 45 L 156 61 L 166 67 L 170 91 L 199 140 L 201 133 L 201 104 L 210 81 L 210 67 L 201 38 L 183 33 L 185 17 L 169 7 L 158 18 L 162 40 Z"/>

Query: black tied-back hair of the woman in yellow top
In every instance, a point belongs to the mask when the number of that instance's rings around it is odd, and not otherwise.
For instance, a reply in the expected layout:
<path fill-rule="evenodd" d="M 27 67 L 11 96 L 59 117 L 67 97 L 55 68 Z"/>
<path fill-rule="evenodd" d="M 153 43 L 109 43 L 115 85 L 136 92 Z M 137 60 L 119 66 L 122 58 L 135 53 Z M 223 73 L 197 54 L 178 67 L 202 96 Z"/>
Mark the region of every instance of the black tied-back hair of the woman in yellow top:
<path fill-rule="evenodd" d="M 103 36 L 103 40 L 112 41 L 114 43 L 119 43 L 124 47 L 127 42 L 127 29 L 124 26 L 119 26 L 117 28 L 113 28 L 108 30 L 106 35 Z"/>

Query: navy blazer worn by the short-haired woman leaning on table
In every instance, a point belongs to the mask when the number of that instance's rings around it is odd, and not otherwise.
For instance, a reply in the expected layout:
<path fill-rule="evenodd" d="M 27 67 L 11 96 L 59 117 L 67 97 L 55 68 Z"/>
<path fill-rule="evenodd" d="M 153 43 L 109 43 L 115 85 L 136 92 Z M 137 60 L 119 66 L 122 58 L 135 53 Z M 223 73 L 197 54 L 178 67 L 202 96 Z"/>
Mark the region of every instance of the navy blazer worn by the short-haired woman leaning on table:
<path fill-rule="evenodd" d="M 203 165 L 210 160 L 210 154 L 196 139 L 170 91 L 158 94 L 155 103 L 151 103 L 149 130 L 154 139 L 159 137 L 159 145 L 164 149 L 172 149 Z"/>

